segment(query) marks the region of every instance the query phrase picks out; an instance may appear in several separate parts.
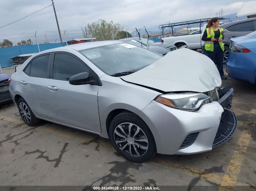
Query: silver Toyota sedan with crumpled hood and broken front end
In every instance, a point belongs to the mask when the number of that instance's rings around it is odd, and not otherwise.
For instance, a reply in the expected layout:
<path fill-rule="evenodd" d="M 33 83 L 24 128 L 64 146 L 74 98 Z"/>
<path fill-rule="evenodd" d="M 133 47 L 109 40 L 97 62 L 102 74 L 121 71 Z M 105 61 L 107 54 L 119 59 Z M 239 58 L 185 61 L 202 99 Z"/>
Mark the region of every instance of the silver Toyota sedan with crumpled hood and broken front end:
<path fill-rule="evenodd" d="M 233 89 L 189 49 L 164 57 L 119 41 L 49 49 L 26 60 L 9 88 L 28 126 L 43 119 L 95 133 L 136 162 L 211 151 L 237 127 Z"/>

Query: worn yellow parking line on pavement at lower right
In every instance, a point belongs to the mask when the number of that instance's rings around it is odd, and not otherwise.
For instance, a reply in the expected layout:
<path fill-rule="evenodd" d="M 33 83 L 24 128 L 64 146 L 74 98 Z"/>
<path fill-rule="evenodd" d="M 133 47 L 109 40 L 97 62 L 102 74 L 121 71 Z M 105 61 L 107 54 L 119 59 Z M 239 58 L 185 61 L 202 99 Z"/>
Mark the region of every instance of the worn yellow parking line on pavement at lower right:
<path fill-rule="evenodd" d="M 255 121 L 251 121 L 251 117 L 256 113 L 256 110 L 253 109 L 250 112 L 247 122 L 245 123 L 243 132 L 238 140 L 237 146 L 234 150 L 234 153 L 229 161 L 228 168 L 225 172 L 223 180 L 221 181 L 221 185 L 219 191 L 226 190 L 227 188 L 231 188 L 231 186 L 235 186 L 237 182 L 237 178 L 239 172 L 241 170 L 243 160 L 247 151 L 247 147 L 249 145 L 249 141 L 251 139 L 251 130 L 255 125 Z"/>

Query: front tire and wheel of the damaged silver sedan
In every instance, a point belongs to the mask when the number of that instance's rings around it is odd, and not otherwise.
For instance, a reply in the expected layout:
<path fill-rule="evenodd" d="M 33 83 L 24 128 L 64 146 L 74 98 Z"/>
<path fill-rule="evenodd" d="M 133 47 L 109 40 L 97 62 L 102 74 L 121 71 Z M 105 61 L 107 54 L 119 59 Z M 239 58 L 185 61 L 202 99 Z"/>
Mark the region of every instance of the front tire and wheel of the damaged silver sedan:
<path fill-rule="evenodd" d="M 156 153 L 151 131 L 135 113 L 119 113 L 110 123 L 109 138 L 115 150 L 129 161 L 144 162 Z"/>

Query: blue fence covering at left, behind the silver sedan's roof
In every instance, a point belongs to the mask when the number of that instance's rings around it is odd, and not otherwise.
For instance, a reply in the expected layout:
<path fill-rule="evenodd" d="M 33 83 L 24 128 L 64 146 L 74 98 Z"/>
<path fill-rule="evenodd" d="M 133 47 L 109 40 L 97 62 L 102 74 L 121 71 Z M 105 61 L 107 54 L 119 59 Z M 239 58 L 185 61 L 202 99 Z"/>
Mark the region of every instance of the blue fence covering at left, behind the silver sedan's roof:
<path fill-rule="evenodd" d="M 57 48 L 60 46 L 65 46 L 66 43 L 51 43 L 51 44 L 39 44 L 40 51 L 48 50 L 52 48 Z M 11 67 L 14 63 L 10 59 L 21 54 L 31 54 L 38 53 L 37 45 L 27 45 L 27 46 L 13 46 L 8 48 L 0 48 L 0 64 L 2 68 Z M 22 64 L 22 63 L 20 63 Z"/>

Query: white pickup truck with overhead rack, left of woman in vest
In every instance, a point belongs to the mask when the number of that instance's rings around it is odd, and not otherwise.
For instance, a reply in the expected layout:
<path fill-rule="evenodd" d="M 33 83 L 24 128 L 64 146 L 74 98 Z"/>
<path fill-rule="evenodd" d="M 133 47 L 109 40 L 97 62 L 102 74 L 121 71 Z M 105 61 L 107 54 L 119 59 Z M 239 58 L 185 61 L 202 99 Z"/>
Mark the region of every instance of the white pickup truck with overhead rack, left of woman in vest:
<path fill-rule="evenodd" d="M 188 49 L 201 49 L 201 46 L 203 46 L 204 44 L 204 41 L 202 41 L 201 38 L 204 33 L 206 25 L 207 24 L 204 24 L 204 26 L 201 27 L 201 31 L 197 30 L 185 35 L 162 38 L 162 42 L 164 41 L 165 43 L 173 44 L 177 46 L 177 48 L 183 45 L 187 45 Z"/>

